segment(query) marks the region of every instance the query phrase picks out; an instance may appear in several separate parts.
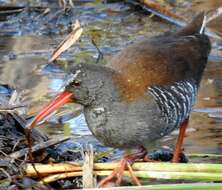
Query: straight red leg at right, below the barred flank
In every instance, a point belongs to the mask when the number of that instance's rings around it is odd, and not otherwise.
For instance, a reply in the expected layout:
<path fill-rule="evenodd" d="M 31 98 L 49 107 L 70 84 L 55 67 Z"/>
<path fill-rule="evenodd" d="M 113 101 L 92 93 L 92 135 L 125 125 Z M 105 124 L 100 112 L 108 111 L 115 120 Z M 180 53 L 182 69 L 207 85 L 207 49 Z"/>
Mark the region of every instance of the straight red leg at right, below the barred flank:
<path fill-rule="evenodd" d="M 175 147 L 174 154 L 173 154 L 173 159 L 172 159 L 172 162 L 174 162 L 174 163 L 179 162 L 179 157 L 180 157 L 180 153 L 181 153 L 181 147 L 183 145 L 183 140 L 184 140 L 184 137 L 185 137 L 185 133 L 186 133 L 186 128 L 188 126 L 188 122 L 189 122 L 189 118 L 187 118 L 180 125 L 180 132 L 179 132 L 179 136 L 177 138 L 177 143 L 176 143 L 176 147 Z"/>

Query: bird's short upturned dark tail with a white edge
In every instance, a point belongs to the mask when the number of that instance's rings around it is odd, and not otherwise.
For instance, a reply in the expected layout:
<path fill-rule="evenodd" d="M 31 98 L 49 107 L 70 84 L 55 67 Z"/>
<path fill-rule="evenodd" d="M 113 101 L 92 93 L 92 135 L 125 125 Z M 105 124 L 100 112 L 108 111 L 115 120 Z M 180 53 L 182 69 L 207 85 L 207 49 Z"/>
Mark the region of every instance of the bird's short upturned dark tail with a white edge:
<path fill-rule="evenodd" d="M 180 29 L 176 33 L 176 36 L 203 34 L 205 27 L 206 15 L 204 12 L 200 12 L 190 23 L 188 23 L 184 28 Z"/>

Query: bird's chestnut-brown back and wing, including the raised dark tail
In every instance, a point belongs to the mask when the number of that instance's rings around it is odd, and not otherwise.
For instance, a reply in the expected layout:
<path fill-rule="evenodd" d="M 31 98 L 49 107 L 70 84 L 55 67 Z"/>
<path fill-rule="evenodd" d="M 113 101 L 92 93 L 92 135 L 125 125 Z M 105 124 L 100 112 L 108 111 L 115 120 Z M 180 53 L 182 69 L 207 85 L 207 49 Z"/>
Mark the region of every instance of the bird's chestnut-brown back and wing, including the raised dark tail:
<path fill-rule="evenodd" d="M 194 79 L 197 84 L 207 63 L 210 42 L 199 34 L 204 14 L 174 34 L 164 34 L 135 43 L 108 64 L 119 72 L 115 82 L 123 98 L 134 100 L 152 85 L 171 85 Z"/>

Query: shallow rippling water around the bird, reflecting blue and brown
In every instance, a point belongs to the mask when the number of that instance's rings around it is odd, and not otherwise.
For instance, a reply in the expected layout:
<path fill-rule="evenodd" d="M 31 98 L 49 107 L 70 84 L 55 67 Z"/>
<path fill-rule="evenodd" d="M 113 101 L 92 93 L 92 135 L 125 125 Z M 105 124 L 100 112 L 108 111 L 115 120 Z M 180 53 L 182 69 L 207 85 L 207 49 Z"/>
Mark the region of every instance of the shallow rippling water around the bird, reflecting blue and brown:
<path fill-rule="evenodd" d="M 96 61 L 98 52 L 91 43 L 92 39 L 108 57 L 142 36 L 175 29 L 122 3 L 88 3 L 67 12 L 55 7 L 46 15 L 43 12 L 44 9 L 31 9 L 0 22 L 0 82 L 26 91 L 24 103 L 28 105 L 29 116 L 36 114 L 55 96 L 63 86 L 65 71 L 73 64 Z M 81 41 L 62 54 L 57 63 L 47 65 L 53 49 L 69 32 L 75 19 L 79 19 L 84 28 Z M 221 51 L 214 52 L 217 56 L 222 55 Z M 72 134 L 80 143 L 93 143 L 106 149 L 91 135 L 81 108 L 77 105 L 71 111 L 67 108 L 70 106 L 62 109 L 64 114 L 53 116 L 43 124 L 44 130 L 51 135 Z M 177 132 L 174 132 L 158 142 L 156 148 L 165 144 L 173 147 L 176 136 Z M 191 114 L 184 149 L 190 153 L 219 154 L 222 151 L 221 137 L 222 61 L 219 60 L 207 66 Z"/>

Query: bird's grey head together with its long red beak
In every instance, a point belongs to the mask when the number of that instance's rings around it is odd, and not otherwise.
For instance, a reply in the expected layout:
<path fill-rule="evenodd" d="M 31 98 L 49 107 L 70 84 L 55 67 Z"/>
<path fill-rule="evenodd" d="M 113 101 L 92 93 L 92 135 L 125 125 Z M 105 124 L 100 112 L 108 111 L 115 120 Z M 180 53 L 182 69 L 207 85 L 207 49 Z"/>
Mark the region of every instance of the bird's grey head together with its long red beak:
<path fill-rule="evenodd" d="M 64 88 L 50 103 L 48 103 L 28 125 L 33 128 L 50 113 L 67 103 L 79 103 L 90 106 L 112 92 L 112 77 L 114 71 L 100 65 L 79 64 L 71 69 L 69 79 Z"/>

